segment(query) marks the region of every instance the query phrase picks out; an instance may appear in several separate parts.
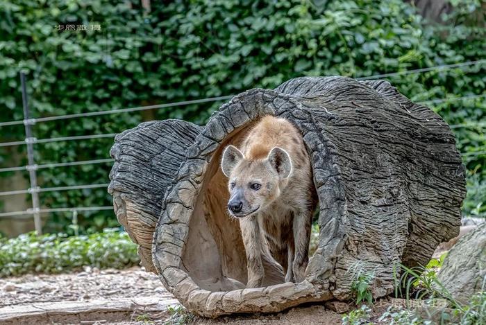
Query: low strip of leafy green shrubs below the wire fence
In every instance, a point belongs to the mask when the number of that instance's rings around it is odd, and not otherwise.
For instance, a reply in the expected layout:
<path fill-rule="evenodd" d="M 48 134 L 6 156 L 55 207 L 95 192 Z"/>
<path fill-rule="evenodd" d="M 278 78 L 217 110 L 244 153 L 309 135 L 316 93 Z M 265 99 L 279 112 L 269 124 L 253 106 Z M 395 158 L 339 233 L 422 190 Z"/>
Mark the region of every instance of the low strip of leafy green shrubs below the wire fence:
<path fill-rule="evenodd" d="M 137 245 L 128 234 L 111 229 L 89 236 L 37 236 L 31 232 L 17 238 L 0 238 L 0 276 L 60 273 L 84 265 L 120 269 L 138 261 Z"/>

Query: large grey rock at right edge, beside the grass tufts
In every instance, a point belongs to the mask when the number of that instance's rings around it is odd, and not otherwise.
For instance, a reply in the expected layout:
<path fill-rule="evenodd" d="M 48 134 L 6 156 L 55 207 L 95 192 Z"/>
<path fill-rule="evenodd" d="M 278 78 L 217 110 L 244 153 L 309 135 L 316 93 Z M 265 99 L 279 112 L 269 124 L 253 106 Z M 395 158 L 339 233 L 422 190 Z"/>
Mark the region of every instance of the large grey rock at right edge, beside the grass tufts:
<path fill-rule="evenodd" d="M 437 279 L 455 299 L 466 301 L 483 290 L 485 277 L 486 223 L 483 223 L 452 247 Z"/>

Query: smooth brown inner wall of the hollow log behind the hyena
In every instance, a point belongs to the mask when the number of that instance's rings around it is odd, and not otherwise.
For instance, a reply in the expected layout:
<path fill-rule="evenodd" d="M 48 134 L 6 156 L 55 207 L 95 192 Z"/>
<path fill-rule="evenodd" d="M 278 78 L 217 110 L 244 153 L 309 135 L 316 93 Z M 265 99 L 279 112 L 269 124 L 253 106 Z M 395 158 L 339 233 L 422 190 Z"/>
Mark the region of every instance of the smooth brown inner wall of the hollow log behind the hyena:
<path fill-rule="evenodd" d="M 228 179 L 221 171 L 220 161 L 224 148 L 230 144 L 240 147 L 248 130 L 258 121 L 249 121 L 225 137 L 212 154 L 197 194 L 182 259 L 187 273 L 198 286 L 206 290 L 245 288 L 246 254 L 240 224 L 236 218 L 229 216 L 226 209 L 229 198 Z M 310 152 L 313 150 L 310 149 Z M 263 264 L 265 278 L 262 287 L 285 282 L 280 265 L 265 260 Z"/>

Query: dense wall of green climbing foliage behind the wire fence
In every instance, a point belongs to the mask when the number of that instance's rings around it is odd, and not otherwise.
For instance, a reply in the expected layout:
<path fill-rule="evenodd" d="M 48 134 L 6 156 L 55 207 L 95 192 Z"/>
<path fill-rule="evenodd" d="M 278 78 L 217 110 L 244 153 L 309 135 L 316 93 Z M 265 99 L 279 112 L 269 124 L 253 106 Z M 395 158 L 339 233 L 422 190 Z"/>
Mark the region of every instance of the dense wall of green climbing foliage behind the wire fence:
<path fill-rule="evenodd" d="M 454 13 L 437 25 L 402 0 L 151 1 L 151 12 L 140 1 L 0 0 L 0 121 L 22 119 L 19 71 L 28 73 L 31 108 L 40 117 L 237 94 L 296 76 L 361 77 L 486 59 L 484 1 L 452 3 Z M 56 31 L 59 24 L 88 30 Z M 101 31 L 90 30 L 94 24 Z M 389 81 L 412 100 L 434 100 L 485 94 L 485 72 L 483 63 Z M 219 105 L 39 123 L 34 134 L 121 132 L 152 118 L 204 123 Z M 485 98 L 430 105 L 451 125 L 465 125 L 453 129 L 469 170 L 464 214 L 484 215 L 486 139 L 478 122 L 485 121 Z M 0 128 L 1 141 L 23 139 L 23 128 Z M 111 144 L 38 144 L 36 161 L 106 158 Z M 9 166 L 8 150 L 0 150 L 2 167 Z M 104 183 L 109 170 L 109 164 L 39 170 L 40 186 Z M 103 188 L 41 193 L 41 200 L 47 207 L 111 204 Z M 117 224 L 111 211 L 82 213 L 79 222 L 82 231 Z M 66 213 L 53 213 L 45 230 L 69 223 Z"/>

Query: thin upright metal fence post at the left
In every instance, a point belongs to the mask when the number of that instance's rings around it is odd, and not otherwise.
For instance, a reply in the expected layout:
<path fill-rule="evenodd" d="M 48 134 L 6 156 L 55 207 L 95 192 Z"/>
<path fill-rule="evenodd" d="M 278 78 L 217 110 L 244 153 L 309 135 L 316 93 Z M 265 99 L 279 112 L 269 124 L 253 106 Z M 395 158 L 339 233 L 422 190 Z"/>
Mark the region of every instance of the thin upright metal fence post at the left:
<path fill-rule="evenodd" d="M 28 110 L 28 95 L 25 82 L 25 73 L 20 73 L 20 83 L 22 84 L 22 105 L 24 107 L 24 125 L 26 134 L 26 145 L 27 145 L 27 159 L 28 159 L 28 176 L 31 179 L 31 196 L 32 196 L 32 209 L 34 214 L 34 226 L 37 235 L 42 235 L 42 223 L 40 222 L 39 213 L 39 193 L 37 192 L 37 173 L 36 165 L 34 161 L 34 144 L 32 137 L 32 124 L 33 121 L 30 119 L 30 114 Z"/>

